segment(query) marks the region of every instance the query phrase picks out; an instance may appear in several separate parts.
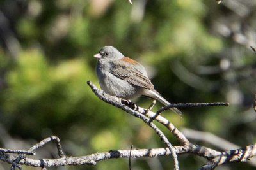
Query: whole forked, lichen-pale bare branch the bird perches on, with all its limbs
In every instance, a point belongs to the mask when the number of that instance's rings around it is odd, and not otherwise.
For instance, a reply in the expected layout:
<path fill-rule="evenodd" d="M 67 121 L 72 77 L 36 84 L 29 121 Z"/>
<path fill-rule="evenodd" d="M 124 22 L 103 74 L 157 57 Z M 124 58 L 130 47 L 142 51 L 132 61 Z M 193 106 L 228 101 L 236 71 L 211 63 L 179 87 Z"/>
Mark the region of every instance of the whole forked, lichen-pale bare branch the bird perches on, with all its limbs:
<path fill-rule="evenodd" d="M 154 103 L 152 103 L 148 110 L 146 110 L 144 108 L 136 106 L 136 104 L 134 103 L 125 101 L 124 99 L 120 99 L 118 97 L 109 96 L 108 94 L 105 94 L 102 90 L 97 89 L 97 87 L 93 85 L 93 83 L 90 81 L 88 81 L 88 85 L 91 87 L 93 92 L 95 92 L 95 94 L 106 103 L 121 108 L 122 110 L 133 115 L 134 117 L 138 117 L 141 120 L 143 120 L 143 122 L 145 122 L 147 125 L 152 127 L 152 129 L 154 129 L 157 135 L 161 139 L 163 139 L 164 143 L 168 147 L 151 149 L 131 148 L 129 150 L 110 150 L 109 152 L 95 153 L 91 155 L 84 155 L 81 157 L 67 157 L 64 155 L 63 150 L 61 148 L 60 139 L 57 136 L 51 136 L 31 146 L 31 148 L 29 148 L 28 151 L 1 149 L 0 160 L 2 160 L 3 162 L 7 162 L 8 164 L 12 164 L 12 169 L 14 169 L 14 167 L 22 169 L 20 165 L 42 167 L 42 169 L 46 169 L 47 167 L 52 166 L 96 165 L 97 162 L 100 160 L 113 158 L 123 157 L 131 159 L 140 157 L 162 157 L 166 155 L 172 155 L 173 160 L 175 161 L 175 169 L 179 169 L 177 155 L 193 153 L 194 155 L 198 155 L 199 157 L 204 157 L 205 159 L 209 160 L 206 164 L 200 167 L 200 169 L 214 169 L 216 166 L 226 164 L 228 162 L 245 162 L 246 160 L 256 155 L 256 144 L 246 146 L 245 148 L 229 150 L 226 152 L 220 152 L 218 150 L 213 150 L 211 148 L 207 148 L 204 146 L 194 145 L 193 143 L 190 143 L 189 140 L 184 136 L 184 134 L 182 134 L 182 132 L 180 132 L 171 122 L 169 122 L 169 120 L 162 117 L 161 115 L 158 115 L 155 120 L 163 124 L 170 132 L 172 132 L 173 136 L 175 136 L 180 141 L 180 146 L 172 146 L 170 141 L 168 141 L 166 136 L 164 136 L 163 132 L 161 132 L 158 129 L 158 127 L 156 127 L 156 125 L 150 122 L 150 118 L 156 116 L 156 113 L 150 111 L 154 106 Z M 185 105 L 186 104 L 181 104 L 179 106 Z M 56 148 L 58 150 L 60 158 L 32 159 L 26 157 L 26 155 L 35 155 L 35 150 L 37 148 L 44 146 L 45 143 L 48 143 L 50 141 L 56 141 Z M 11 153 L 20 155 L 11 155 Z"/>

